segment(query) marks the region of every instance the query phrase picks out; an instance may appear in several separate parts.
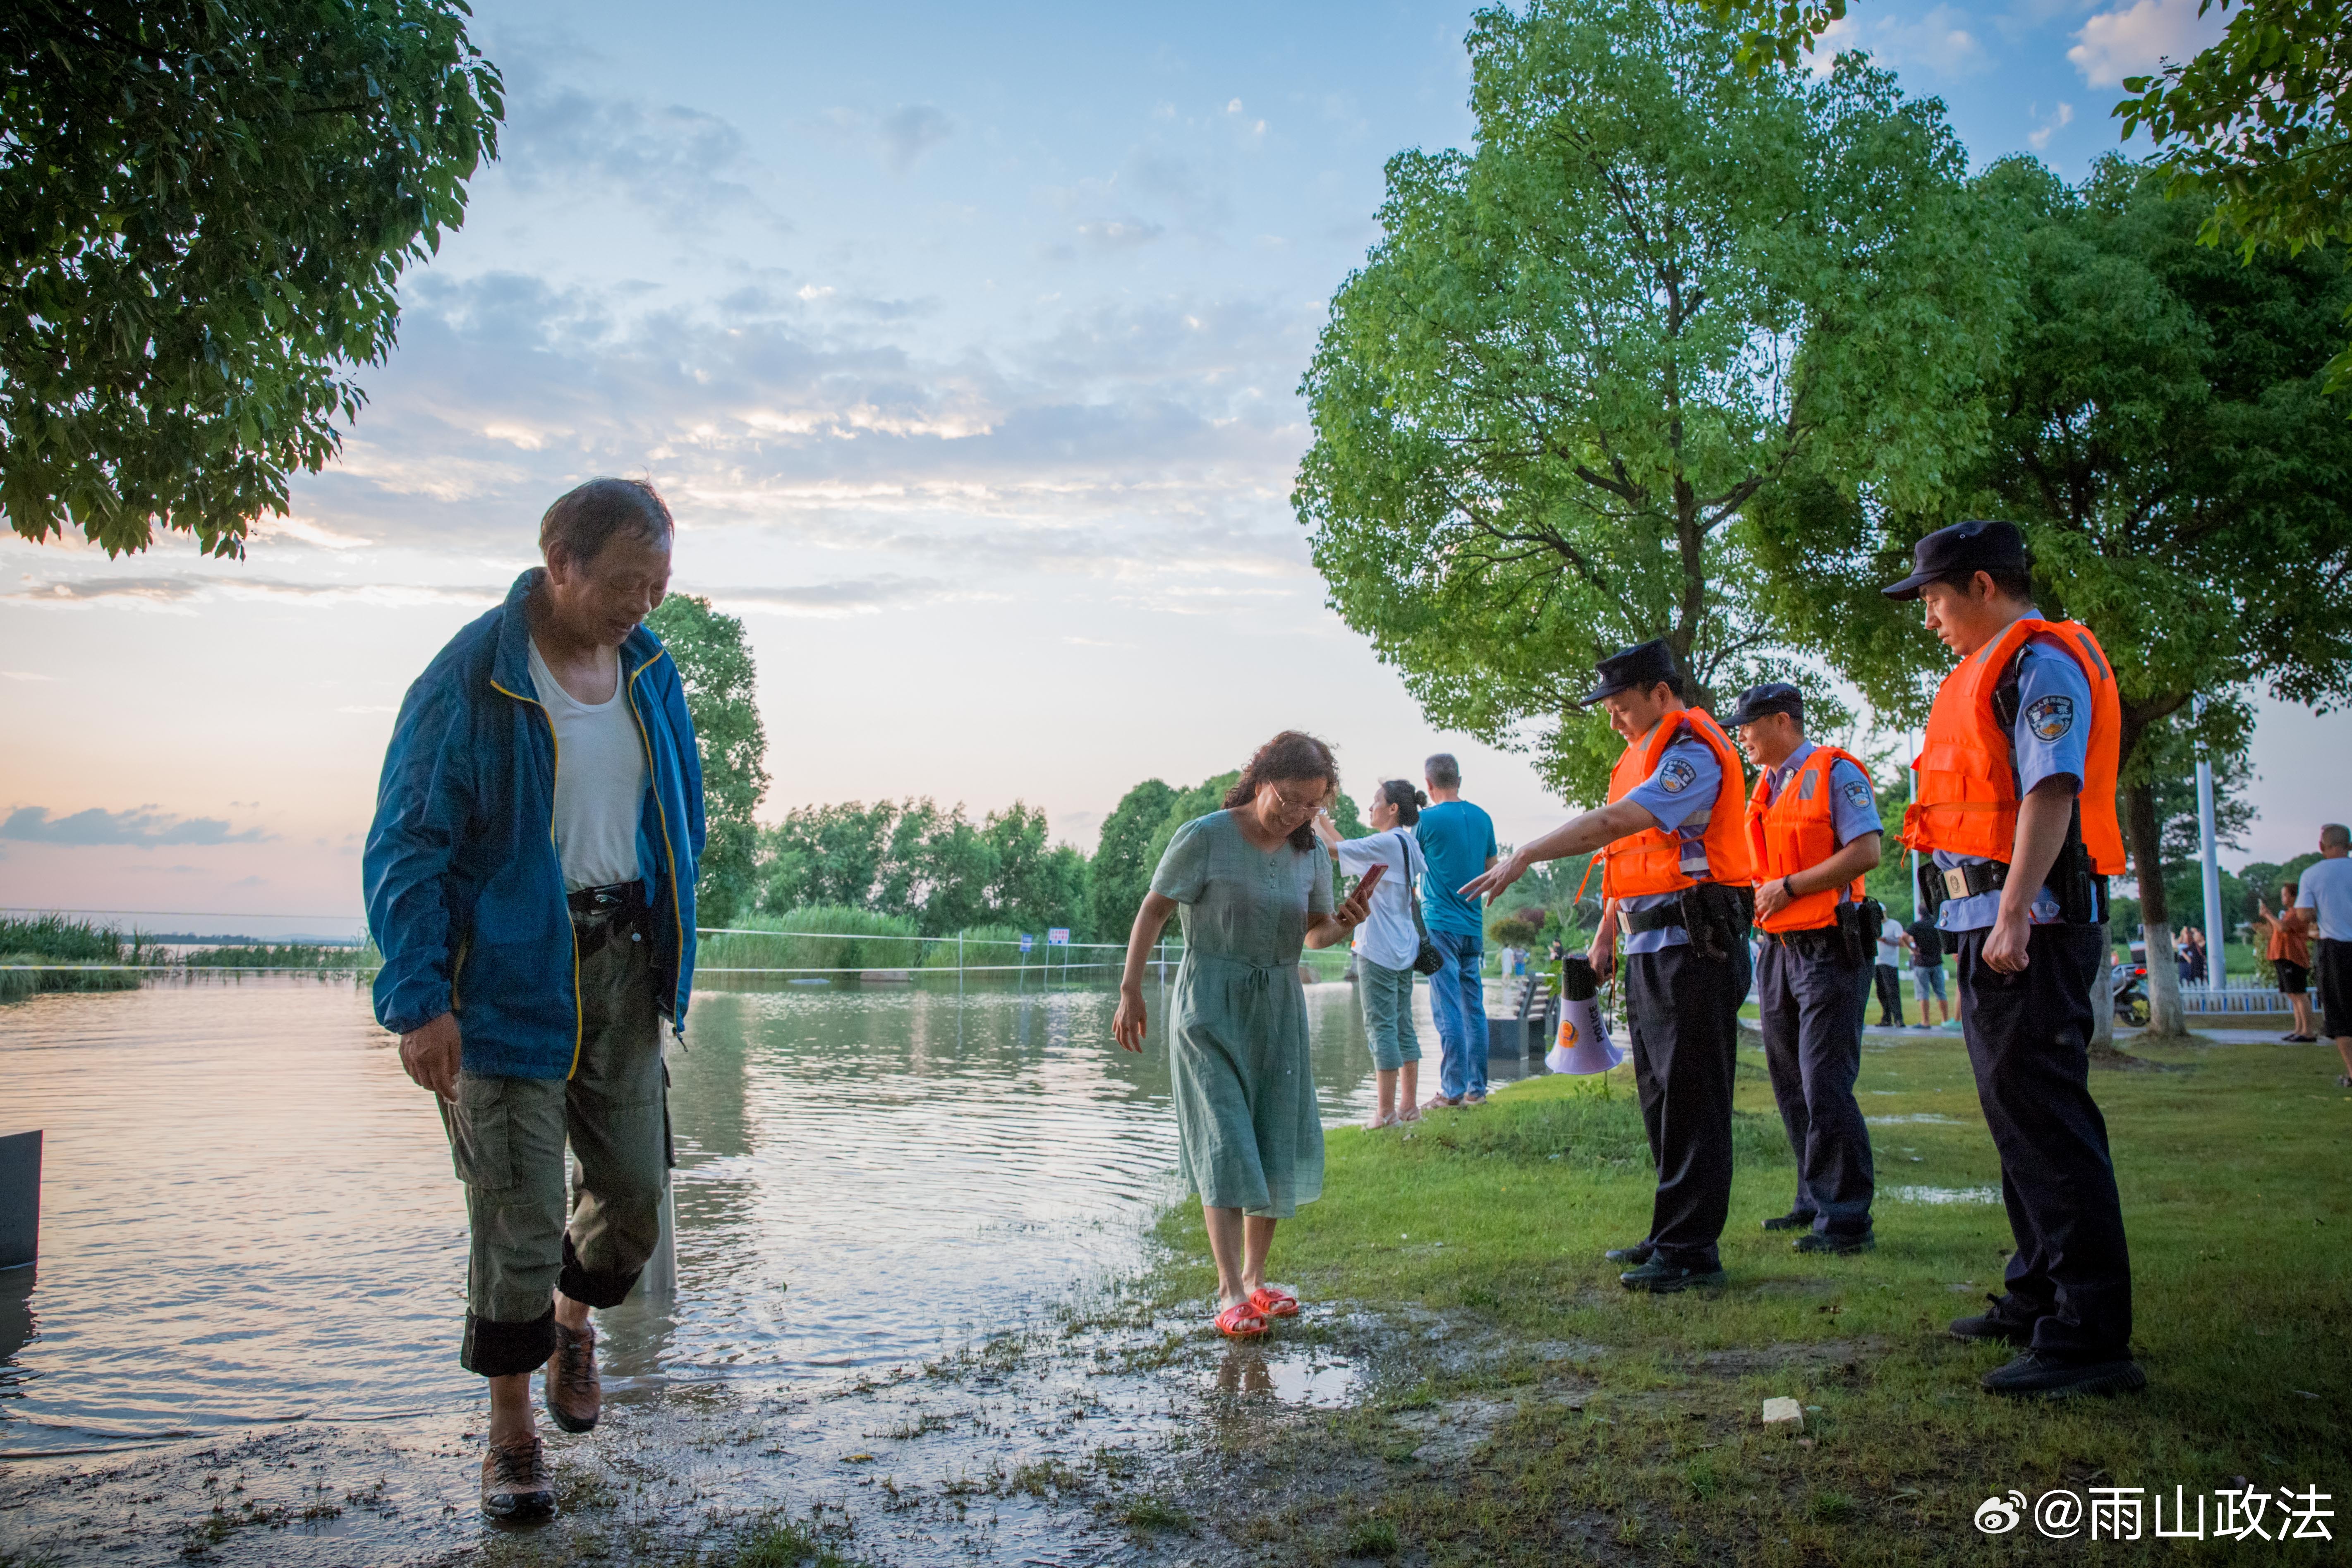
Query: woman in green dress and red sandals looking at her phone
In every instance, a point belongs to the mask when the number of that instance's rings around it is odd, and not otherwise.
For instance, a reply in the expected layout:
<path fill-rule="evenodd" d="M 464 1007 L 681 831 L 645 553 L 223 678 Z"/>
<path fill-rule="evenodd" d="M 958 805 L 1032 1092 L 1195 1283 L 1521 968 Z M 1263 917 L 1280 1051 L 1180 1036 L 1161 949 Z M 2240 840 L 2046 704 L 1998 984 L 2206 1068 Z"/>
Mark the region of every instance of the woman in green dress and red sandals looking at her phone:
<path fill-rule="evenodd" d="M 1322 1117 L 1308 1067 L 1298 950 L 1345 943 L 1364 922 L 1364 877 L 1331 903 L 1331 856 L 1315 811 L 1338 790 L 1331 748 L 1287 729 L 1249 759 L 1225 809 L 1169 839 L 1136 910 L 1112 1032 L 1143 1048 L 1143 964 L 1183 910 L 1183 966 L 1169 1013 L 1169 1079 L 1185 1180 L 1200 1192 L 1216 1255 L 1216 1326 L 1232 1338 L 1294 1316 L 1265 1284 L 1275 1220 L 1322 1197 Z"/>

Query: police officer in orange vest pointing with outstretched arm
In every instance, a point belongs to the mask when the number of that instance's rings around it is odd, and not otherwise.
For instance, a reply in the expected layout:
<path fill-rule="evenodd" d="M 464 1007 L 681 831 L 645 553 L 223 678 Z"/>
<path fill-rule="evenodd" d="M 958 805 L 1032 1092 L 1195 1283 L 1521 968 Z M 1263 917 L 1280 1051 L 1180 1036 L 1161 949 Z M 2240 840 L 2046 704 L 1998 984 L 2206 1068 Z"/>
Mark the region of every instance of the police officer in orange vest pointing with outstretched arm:
<path fill-rule="evenodd" d="M 1630 1291 L 1719 1284 L 1731 1063 L 1750 978 L 1740 759 L 1708 712 L 1684 705 L 1684 675 L 1665 642 L 1604 658 L 1583 703 L 1599 703 L 1625 738 L 1609 804 L 1512 851 L 1463 896 L 1491 898 L 1538 860 L 1606 851 L 1592 966 L 1609 973 L 1623 931 L 1635 1086 L 1658 1164 L 1649 1237 L 1609 1258 L 1635 1265 L 1618 1276 Z"/>

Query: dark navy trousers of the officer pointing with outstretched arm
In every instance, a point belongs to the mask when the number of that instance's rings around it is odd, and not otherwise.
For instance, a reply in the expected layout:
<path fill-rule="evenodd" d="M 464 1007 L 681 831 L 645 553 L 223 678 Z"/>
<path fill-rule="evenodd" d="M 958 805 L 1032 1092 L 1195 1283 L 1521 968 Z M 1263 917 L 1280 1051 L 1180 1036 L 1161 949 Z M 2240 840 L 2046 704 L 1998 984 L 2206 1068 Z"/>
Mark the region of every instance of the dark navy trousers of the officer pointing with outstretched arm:
<path fill-rule="evenodd" d="M 1705 959 L 1689 943 L 1625 959 L 1632 1081 L 1658 1164 L 1649 1239 L 1658 1260 L 1717 1269 L 1731 1213 L 1731 1065 L 1748 999 L 1748 943 Z"/>

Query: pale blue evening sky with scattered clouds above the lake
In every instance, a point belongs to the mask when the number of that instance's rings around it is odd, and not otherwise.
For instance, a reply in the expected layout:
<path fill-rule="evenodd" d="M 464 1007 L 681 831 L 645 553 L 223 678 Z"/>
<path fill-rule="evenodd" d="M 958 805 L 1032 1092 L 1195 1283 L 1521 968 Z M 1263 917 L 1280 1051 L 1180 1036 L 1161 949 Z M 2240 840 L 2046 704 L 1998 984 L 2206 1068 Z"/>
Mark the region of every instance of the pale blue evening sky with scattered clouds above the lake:
<path fill-rule="evenodd" d="M 242 564 L 0 545 L 0 903 L 355 912 L 400 691 L 590 473 L 656 480 L 677 588 L 750 625 L 769 813 L 1025 797 L 1091 846 L 1131 783 L 1303 724 L 1355 792 L 1449 748 L 1505 837 L 1550 825 L 1524 759 L 1423 724 L 1322 607 L 1287 501 L 1381 167 L 1472 129 L 1465 21 L 477 5 L 506 158 L 294 517 Z M 2082 174 L 2117 78 L 2211 31 L 1856 0 L 1837 42 L 1978 162 Z M 2347 816 L 2314 783 L 2347 743 L 2265 719 L 2251 851 Z"/>

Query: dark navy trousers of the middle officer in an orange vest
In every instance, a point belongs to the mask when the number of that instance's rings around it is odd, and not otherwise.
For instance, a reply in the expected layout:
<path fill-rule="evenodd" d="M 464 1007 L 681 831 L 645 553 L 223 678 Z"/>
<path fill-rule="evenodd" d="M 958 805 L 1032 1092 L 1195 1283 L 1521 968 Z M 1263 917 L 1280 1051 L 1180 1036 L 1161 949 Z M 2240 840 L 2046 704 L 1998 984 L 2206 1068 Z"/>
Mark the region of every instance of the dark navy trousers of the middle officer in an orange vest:
<path fill-rule="evenodd" d="M 1835 936 L 1835 933 L 1832 933 Z M 1863 1070 L 1863 992 L 1856 966 L 1764 938 L 1757 966 L 1757 1023 L 1771 1098 L 1788 1147 L 1797 1152 L 1795 1213 L 1813 1229 L 1858 1237 L 1870 1229 L 1870 1128 L 1853 1100 Z"/>

